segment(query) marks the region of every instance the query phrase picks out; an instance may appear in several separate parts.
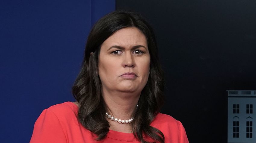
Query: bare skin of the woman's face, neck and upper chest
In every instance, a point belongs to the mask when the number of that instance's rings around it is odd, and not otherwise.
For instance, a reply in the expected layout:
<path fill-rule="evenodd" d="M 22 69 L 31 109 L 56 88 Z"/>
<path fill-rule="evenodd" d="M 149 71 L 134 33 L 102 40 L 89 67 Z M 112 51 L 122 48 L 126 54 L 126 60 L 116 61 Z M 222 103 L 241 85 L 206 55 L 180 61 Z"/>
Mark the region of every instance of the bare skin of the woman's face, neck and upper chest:
<path fill-rule="evenodd" d="M 148 81 L 149 70 L 147 39 L 138 28 L 120 29 L 102 43 L 98 74 L 102 83 L 102 96 L 111 115 L 124 120 L 131 118 Z M 127 72 L 133 72 L 136 76 L 121 76 Z M 108 120 L 111 130 L 131 133 L 129 124 Z"/>

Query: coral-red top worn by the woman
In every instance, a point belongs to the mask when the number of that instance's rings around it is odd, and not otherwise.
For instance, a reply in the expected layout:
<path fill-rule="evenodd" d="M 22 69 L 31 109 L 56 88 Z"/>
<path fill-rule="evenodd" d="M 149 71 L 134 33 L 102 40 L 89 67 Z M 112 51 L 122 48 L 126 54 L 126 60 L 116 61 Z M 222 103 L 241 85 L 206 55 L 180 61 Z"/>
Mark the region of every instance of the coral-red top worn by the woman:
<path fill-rule="evenodd" d="M 72 102 L 57 104 L 43 110 L 36 120 L 30 143 L 82 143 L 96 142 L 92 133 L 77 120 L 78 107 Z M 150 126 L 160 130 L 166 143 L 188 143 L 186 132 L 180 121 L 159 113 Z M 139 143 L 133 133 L 109 130 L 101 142 Z"/>

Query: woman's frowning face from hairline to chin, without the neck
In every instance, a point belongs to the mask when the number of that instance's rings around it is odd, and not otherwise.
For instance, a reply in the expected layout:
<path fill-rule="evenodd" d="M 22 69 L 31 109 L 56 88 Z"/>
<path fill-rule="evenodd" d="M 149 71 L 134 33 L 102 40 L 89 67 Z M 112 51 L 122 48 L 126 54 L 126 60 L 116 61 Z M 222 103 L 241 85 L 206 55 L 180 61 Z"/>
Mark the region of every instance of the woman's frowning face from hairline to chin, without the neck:
<path fill-rule="evenodd" d="M 150 54 L 147 39 L 138 28 L 123 28 L 108 37 L 98 59 L 103 90 L 141 92 L 145 87 Z"/>

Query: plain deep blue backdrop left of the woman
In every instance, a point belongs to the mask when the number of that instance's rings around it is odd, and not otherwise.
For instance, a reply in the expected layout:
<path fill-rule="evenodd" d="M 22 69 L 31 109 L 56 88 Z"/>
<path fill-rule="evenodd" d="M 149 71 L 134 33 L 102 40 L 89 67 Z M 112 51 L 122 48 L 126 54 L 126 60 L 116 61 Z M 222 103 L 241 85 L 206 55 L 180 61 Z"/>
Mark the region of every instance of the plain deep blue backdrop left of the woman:
<path fill-rule="evenodd" d="M 1 142 L 29 142 L 43 109 L 75 101 L 90 28 L 115 0 L 0 2 Z"/>

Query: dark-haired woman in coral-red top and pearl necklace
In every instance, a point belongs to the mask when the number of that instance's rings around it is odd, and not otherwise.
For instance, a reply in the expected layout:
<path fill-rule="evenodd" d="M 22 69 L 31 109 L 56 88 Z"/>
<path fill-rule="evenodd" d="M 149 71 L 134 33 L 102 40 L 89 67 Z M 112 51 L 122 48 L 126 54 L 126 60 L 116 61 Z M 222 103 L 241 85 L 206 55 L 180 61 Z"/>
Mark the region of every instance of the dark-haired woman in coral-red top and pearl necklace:
<path fill-rule="evenodd" d="M 73 86 L 77 102 L 45 109 L 30 142 L 187 143 L 180 121 L 159 113 L 163 79 L 148 23 L 133 12 L 112 12 L 88 36 Z"/>

